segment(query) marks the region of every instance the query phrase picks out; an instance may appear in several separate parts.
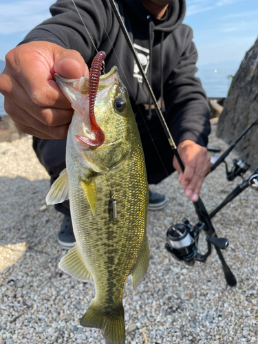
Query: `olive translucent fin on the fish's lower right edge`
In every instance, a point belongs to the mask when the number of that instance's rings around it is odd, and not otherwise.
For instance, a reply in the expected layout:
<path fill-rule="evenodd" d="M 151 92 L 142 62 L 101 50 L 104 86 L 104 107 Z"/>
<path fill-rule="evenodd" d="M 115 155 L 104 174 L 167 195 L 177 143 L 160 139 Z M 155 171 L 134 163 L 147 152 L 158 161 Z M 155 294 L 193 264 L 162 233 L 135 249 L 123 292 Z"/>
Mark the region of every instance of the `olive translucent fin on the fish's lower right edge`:
<path fill-rule="evenodd" d="M 149 245 L 147 241 L 147 236 L 144 239 L 144 244 L 139 252 L 136 264 L 131 269 L 131 283 L 133 283 L 133 289 L 136 290 L 142 279 L 147 272 L 149 266 Z"/>

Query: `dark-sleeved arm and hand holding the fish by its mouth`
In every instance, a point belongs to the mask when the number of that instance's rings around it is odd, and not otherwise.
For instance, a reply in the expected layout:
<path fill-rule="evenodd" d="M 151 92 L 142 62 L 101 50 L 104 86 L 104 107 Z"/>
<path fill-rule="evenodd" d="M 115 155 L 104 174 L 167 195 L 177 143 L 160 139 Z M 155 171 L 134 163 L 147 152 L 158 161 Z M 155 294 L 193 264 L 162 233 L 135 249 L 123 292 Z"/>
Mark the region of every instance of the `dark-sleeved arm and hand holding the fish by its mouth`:
<path fill-rule="evenodd" d="M 76 1 L 96 46 L 105 36 L 101 17 L 103 1 Z M 101 6 L 102 7 L 101 7 Z M 57 1 L 54 17 L 32 30 L 6 55 L 6 68 L 0 75 L 0 92 L 5 96 L 5 109 L 17 129 L 38 138 L 64 138 L 73 110 L 56 85 L 54 74 L 80 78 L 88 73 L 85 61 L 96 54 L 72 1 Z M 108 11 L 107 11 L 108 12 Z M 109 23 L 109 26 L 111 23 Z M 83 57 L 82 57 L 83 55 Z"/>

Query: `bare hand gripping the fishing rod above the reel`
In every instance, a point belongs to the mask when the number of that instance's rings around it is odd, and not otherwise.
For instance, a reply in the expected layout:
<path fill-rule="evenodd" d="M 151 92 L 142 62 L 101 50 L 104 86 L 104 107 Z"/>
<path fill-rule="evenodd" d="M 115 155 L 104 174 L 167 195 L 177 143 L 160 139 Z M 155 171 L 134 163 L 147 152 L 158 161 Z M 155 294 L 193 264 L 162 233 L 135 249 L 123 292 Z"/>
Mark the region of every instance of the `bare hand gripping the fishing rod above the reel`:
<path fill-rule="evenodd" d="M 178 153 L 184 164 L 184 173 L 178 160 L 173 158 L 173 166 L 178 171 L 178 182 L 185 186 L 184 194 L 197 202 L 204 177 L 211 169 L 211 156 L 205 147 L 191 140 L 178 144 Z"/>

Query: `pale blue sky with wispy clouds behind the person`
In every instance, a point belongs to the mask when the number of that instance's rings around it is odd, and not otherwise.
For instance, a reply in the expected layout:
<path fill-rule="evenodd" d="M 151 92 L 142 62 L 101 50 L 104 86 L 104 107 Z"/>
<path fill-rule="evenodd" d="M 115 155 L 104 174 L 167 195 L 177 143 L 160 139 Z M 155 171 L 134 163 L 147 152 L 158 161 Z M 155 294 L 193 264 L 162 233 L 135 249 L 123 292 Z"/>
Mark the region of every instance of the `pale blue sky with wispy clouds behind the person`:
<path fill-rule="evenodd" d="M 72 0 L 71 0 L 72 1 Z M 1 0 L 0 60 L 34 26 L 50 17 L 53 0 Z M 240 63 L 258 35 L 258 0 L 186 0 L 198 65 Z"/>

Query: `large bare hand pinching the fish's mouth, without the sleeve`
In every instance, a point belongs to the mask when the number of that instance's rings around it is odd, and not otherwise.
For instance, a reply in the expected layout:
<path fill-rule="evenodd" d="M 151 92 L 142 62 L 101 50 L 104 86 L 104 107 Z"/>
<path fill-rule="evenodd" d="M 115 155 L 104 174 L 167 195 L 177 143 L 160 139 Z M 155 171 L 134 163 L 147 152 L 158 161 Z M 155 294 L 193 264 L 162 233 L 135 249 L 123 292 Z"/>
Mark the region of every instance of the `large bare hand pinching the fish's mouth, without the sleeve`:
<path fill-rule="evenodd" d="M 45 41 L 19 45 L 6 55 L 0 92 L 19 131 L 38 138 L 67 136 L 74 110 L 54 81 L 55 73 L 80 78 L 89 71 L 78 52 Z"/>

